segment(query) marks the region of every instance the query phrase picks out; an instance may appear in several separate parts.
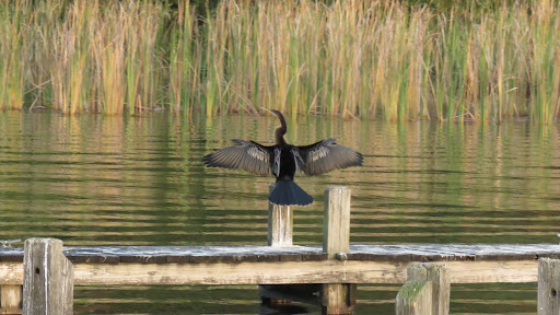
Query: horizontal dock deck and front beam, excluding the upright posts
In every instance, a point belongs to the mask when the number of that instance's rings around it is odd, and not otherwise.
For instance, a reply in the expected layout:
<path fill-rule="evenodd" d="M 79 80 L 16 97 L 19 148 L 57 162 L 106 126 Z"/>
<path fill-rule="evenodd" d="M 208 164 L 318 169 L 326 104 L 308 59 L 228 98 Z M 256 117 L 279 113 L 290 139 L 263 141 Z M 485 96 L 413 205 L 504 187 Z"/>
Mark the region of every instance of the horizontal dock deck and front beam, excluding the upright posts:
<path fill-rule="evenodd" d="M 452 283 L 536 282 L 538 258 L 560 245 L 350 245 L 345 260 L 318 246 L 65 247 L 77 285 L 404 283 L 412 261 L 445 264 Z M 23 284 L 23 248 L 0 248 L 0 283 Z M 281 275 L 278 270 L 283 270 Z"/>

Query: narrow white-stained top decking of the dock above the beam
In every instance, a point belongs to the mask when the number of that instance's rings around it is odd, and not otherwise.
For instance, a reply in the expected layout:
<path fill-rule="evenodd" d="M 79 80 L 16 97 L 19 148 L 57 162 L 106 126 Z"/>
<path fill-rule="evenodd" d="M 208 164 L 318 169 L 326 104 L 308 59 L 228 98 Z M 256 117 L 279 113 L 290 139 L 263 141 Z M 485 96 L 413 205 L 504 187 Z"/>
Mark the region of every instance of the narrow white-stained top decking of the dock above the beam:
<path fill-rule="evenodd" d="M 74 264 L 210 264 L 255 261 L 319 261 L 320 246 L 66 246 Z M 510 261 L 559 258 L 557 244 L 401 244 L 350 245 L 348 260 L 370 261 Z M 0 262 L 23 261 L 23 247 L 0 247 Z"/>

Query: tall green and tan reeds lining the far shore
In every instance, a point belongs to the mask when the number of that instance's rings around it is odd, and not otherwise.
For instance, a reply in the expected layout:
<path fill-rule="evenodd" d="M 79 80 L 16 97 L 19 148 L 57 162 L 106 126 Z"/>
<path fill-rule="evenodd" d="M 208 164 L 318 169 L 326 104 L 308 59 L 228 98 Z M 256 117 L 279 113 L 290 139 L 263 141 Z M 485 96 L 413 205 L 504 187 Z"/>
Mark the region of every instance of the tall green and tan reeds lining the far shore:
<path fill-rule="evenodd" d="M 470 2 L 469 2 L 470 3 Z M 472 1 L 475 3 L 475 1 Z M 551 124 L 560 4 L 0 2 L 0 110 Z M 203 10 L 202 10 L 203 11 Z"/>

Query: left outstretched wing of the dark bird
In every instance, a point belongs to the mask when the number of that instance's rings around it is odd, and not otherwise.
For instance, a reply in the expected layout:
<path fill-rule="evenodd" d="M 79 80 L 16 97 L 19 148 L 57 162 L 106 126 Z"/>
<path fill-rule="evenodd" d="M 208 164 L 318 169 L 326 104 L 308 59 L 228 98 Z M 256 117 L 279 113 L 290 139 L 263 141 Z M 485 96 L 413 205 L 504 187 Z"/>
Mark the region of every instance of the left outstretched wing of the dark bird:
<path fill-rule="evenodd" d="M 224 167 L 247 171 L 257 175 L 270 174 L 270 159 L 273 147 L 261 145 L 254 141 L 232 139 L 233 147 L 217 150 L 202 161 L 209 167 Z"/>

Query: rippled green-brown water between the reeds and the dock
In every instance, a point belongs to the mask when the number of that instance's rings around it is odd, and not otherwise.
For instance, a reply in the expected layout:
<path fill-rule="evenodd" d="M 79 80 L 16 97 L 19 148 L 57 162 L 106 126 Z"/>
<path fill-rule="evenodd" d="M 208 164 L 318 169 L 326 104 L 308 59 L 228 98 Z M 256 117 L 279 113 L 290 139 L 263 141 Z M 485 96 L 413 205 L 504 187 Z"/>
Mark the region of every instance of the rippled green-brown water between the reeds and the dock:
<path fill-rule="evenodd" d="M 296 244 L 320 244 L 323 191 L 329 185 L 352 189 L 352 243 L 559 241 L 556 125 L 288 120 L 292 143 L 334 137 L 365 158 L 363 167 L 296 178 L 316 199 L 294 210 Z M 232 138 L 271 143 L 276 127 L 270 116 L 0 114 L 0 240 L 266 244 L 266 197 L 273 178 L 206 168 L 201 158 Z M 394 314 L 398 289 L 359 287 L 358 314 Z M 535 310 L 536 284 L 452 289 L 454 314 Z M 303 304 L 266 312 L 254 285 L 79 287 L 75 292 L 77 314 L 319 314 Z"/>

